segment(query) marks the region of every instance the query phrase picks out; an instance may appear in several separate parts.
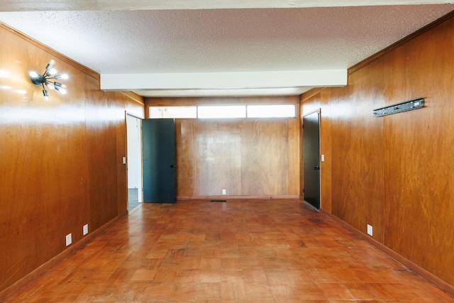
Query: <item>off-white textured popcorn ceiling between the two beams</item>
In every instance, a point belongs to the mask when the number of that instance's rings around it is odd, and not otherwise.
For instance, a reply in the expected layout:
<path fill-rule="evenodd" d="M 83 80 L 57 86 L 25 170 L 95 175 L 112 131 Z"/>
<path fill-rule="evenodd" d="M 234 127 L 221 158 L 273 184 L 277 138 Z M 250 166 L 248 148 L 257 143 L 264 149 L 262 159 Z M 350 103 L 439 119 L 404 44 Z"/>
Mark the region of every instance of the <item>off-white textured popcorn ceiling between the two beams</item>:
<path fill-rule="evenodd" d="M 26 2 L 29 1 L 14 3 Z M 69 2 L 62 1 L 62 4 Z M 132 1 L 137 2 L 140 1 Z M 194 1 L 194 4 L 199 2 Z M 346 70 L 453 10 L 453 4 L 299 9 L 182 10 L 172 7 L 138 11 L 0 12 L 0 21 L 96 70 L 101 74 L 101 81 L 103 75 L 121 75 L 126 87 L 118 89 L 134 90 L 144 96 L 178 96 L 185 92 L 191 95 L 247 94 L 241 89 L 268 94 L 270 89 L 287 88 L 298 88 L 290 93 L 298 94 L 314 85 L 323 86 L 323 82 L 309 86 L 301 77 L 300 83 L 288 86 L 279 83 L 273 87 L 270 82 L 261 85 L 248 77 L 255 75 L 251 72 Z M 243 87 L 236 81 L 231 87 L 236 90 L 227 93 L 231 77 L 224 77 L 226 73 L 235 73 L 237 80 L 244 77 Z M 162 77 L 168 78 L 169 83 L 157 86 L 156 81 L 149 85 L 144 82 L 137 87 L 133 80 L 128 86 L 126 74 L 185 74 L 188 79 L 200 78 L 200 82 L 178 87 L 171 83 L 172 78 L 182 82 L 184 77 Z M 216 77 L 226 79 L 226 85 L 204 86 L 206 79 Z M 112 85 L 115 86 L 110 84 L 109 89 L 116 89 Z M 203 89 L 211 91 L 207 93 Z M 260 92 L 260 89 L 268 90 Z"/>

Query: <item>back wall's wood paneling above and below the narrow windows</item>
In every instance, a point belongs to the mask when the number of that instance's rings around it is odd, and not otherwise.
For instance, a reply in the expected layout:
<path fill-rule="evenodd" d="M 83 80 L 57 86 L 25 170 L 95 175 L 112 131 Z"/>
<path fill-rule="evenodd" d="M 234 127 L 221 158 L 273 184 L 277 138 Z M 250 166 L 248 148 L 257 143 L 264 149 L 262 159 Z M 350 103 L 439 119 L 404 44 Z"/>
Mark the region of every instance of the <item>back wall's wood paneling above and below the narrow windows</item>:
<path fill-rule="evenodd" d="M 298 104 L 298 97 L 148 98 L 145 104 Z M 298 106 L 297 106 L 298 107 Z M 176 119 L 177 197 L 298 197 L 299 119 Z"/>

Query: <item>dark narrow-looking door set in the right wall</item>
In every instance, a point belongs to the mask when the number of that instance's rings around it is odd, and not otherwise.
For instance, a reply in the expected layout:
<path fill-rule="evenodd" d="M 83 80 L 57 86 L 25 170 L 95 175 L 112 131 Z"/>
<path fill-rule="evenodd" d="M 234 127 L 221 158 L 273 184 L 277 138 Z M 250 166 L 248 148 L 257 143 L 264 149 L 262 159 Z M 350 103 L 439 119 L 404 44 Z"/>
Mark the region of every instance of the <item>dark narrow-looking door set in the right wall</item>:
<path fill-rule="evenodd" d="M 320 114 L 303 117 L 304 200 L 320 209 Z"/>

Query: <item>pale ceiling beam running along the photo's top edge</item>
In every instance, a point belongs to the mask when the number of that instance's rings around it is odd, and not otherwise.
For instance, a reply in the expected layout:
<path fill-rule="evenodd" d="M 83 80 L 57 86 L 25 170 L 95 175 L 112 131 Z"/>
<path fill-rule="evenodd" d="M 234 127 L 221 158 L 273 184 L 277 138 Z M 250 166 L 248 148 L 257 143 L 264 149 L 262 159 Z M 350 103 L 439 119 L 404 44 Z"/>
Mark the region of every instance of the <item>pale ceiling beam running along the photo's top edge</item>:
<path fill-rule="evenodd" d="M 127 11 L 159 9 L 296 9 L 336 6 L 453 4 L 453 0 L 2 0 L 0 11 Z"/>

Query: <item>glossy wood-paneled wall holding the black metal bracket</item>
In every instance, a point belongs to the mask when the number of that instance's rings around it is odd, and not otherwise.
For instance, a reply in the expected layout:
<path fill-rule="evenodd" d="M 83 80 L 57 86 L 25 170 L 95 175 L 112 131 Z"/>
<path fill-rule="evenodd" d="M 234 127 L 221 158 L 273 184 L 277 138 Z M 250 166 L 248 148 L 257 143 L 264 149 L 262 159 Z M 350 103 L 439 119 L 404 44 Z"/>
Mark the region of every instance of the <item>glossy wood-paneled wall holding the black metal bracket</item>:
<path fill-rule="evenodd" d="M 348 87 L 301 97 L 321 108 L 322 209 L 454 285 L 454 18 L 350 69 Z M 423 109 L 372 109 L 424 97 Z"/>

